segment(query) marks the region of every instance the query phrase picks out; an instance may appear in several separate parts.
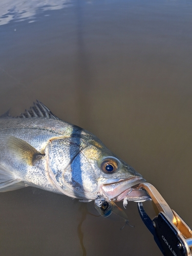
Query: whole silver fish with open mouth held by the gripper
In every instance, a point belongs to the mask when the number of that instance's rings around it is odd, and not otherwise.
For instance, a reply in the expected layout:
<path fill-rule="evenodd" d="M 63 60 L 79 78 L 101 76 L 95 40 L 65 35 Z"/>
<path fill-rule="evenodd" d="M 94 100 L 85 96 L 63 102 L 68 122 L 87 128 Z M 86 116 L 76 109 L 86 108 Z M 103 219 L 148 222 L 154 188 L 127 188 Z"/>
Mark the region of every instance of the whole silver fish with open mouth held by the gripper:
<path fill-rule="evenodd" d="M 145 179 L 95 135 L 36 101 L 17 117 L 0 116 L 0 192 L 27 186 L 90 202 L 145 201 Z M 126 219 L 126 218 L 125 218 Z"/>

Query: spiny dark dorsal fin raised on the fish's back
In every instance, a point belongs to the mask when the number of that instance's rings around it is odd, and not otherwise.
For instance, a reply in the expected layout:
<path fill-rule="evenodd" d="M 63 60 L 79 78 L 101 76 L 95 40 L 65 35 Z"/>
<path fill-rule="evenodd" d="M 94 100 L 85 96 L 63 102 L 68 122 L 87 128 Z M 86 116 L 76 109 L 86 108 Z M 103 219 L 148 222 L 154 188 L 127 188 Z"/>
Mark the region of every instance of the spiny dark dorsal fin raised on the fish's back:
<path fill-rule="evenodd" d="M 25 112 L 17 116 L 17 118 L 47 117 L 47 118 L 59 119 L 42 102 L 36 100 L 36 102 L 33 102 L 33 103 L 34 105 L 31 106 L 29 110 L 25 110 Z"/>

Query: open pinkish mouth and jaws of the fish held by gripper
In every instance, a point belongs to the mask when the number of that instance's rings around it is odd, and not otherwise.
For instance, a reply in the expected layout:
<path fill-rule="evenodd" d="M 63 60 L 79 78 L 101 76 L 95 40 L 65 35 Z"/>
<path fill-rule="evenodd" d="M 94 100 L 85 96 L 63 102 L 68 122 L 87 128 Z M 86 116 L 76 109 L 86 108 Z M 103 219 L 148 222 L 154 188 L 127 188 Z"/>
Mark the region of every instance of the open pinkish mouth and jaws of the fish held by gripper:
<path fill-rule="evenodd" d="M 113 201 L 123 201 L 126 198 L 127 201 L 142 202 L 150 199 L 145 190 L 137 188 L 145 181 L 142 176 L 129 179 L 106 179 L 101 182 L 99 192 Z"/>

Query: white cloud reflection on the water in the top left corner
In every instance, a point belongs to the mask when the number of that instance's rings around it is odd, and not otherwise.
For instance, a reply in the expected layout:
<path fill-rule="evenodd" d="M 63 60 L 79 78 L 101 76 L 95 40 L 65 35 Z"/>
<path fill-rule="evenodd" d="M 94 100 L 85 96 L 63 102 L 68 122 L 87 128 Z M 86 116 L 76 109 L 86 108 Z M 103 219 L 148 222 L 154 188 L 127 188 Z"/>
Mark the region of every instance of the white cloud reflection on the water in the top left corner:
<path fill-rule="evenodd" d="M 22 22 L 31 19 L 29 23 L 35 21 L 36 13 L 59 10 L 68 7 L 70 0 L 1 0 L 0 26 L 9 23 L 11 20 Z"/>

